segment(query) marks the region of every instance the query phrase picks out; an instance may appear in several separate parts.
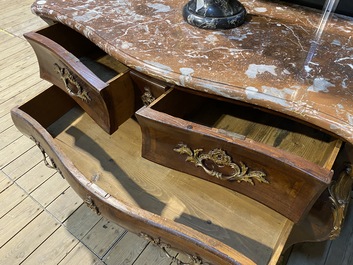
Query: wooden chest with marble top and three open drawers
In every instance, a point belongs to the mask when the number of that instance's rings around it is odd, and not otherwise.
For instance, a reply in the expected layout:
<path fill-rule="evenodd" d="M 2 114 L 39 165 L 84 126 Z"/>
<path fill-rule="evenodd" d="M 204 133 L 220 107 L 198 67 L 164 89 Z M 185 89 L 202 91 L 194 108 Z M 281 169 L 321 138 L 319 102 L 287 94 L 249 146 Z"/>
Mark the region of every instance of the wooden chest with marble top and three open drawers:
<path fill-rule="evenodd" d="M 251 20 L 211 32 L 177 0 L 37 1 L 51 26 L 25 35 L 53 86 L 15 125 L 88 207 L 181 264 L 275 264 L 333 239 L 352 189 L 352 22 L 335 18 L 300 81 L 319 16 L 244 2 Z"/>

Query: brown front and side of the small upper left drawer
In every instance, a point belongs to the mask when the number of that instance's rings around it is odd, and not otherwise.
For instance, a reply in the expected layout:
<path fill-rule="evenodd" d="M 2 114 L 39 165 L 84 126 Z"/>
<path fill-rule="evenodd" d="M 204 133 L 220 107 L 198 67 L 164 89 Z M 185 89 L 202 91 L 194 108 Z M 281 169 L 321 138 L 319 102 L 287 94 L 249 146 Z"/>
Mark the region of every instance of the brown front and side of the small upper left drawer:
<path fill-rule="evenodd" d="M 51 27 L 58 27 L 59 32 L 72 31 L 58 24 Z M 46 29 L 48 32 L 55 30 Z M 85 59 L 78 59 L 47 36 L 31 32 L 25 34 L 25 37 L 37 55 L 41 78 L 69 94 L 106 132 L 114 132 L 131 117 L 134 112 L 134 95 L 128 73 L 118 73 L 118 78 L 104 82 L 82 62 Z M 79 50 L 80 47 L 92 44 L 81 37 L 67 46 Z M 92 47 L 85 52 L 89 54 L 97 50 L 97 47 Z M 114 83 L 114 89 L 110 88 L 111 82 Z M 117 106 L 117 103 L 122 105 Z"/>

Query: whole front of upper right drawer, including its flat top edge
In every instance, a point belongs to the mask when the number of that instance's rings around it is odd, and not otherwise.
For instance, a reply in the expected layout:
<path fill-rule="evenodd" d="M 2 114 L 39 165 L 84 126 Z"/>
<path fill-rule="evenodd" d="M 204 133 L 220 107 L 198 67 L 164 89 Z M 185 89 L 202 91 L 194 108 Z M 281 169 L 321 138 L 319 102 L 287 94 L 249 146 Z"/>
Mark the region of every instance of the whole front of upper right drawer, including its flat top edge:
<path fill-rule="evenodd" d="M 173 116 L 179 109 L 168 114 L 156 110 L 158 103 L 163 111 L 173 104 L 181 106 L 169 97 L 172 93 L 136 113 L 143 133 L 143 157 L 245 194 L 293 222 L 299 222 L 328 187 L 330 169 L 241 135 Z M 190 116 L 186 113 L 189 99 L 182 99 L 180 116 Z M 190 99 L 193 109 L 198 108 L 195 102 Z"/>

